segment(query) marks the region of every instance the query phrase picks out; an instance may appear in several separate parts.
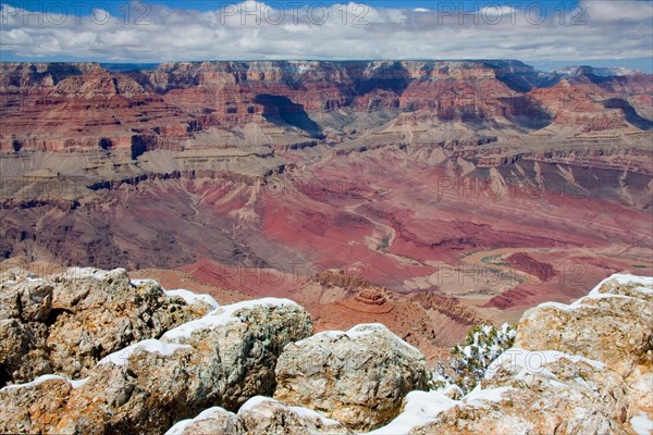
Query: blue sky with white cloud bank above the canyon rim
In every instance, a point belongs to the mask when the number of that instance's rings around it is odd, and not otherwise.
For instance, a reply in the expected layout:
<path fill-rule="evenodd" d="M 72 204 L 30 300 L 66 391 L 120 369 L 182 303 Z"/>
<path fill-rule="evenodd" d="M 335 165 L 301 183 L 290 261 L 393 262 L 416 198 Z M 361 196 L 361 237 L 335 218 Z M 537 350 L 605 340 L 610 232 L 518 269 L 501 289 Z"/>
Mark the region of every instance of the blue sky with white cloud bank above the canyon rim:
<path fill-rule="evenodd" d="M 653 72 L 651 0 L 0 0 L 0 61 L 518 59 Z"/>

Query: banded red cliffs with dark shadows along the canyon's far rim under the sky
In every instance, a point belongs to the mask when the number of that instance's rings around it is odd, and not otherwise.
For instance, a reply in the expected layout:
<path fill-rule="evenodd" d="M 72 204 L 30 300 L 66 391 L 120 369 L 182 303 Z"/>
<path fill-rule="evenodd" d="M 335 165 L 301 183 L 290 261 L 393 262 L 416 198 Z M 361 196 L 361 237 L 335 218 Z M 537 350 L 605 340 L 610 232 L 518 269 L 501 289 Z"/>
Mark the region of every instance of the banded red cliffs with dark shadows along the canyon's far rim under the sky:
<path fill-rule="evenodd" d="M 130 73 L 91 63 L 3 63 L 0 150 L 130 148 L 145 139 L 153 149 L 180 149 L 198 132 L 266 123 L 333 139 L 350 120 L 330 112 L 343 110 L 380 112 L 397 126 L 431 120 L 519 132 L 554 121 L 587 133 L 629 126 L 625 110 L 607 110 L 603 99 L 629 92 L 636 102 L 651 90 L 645 75 L 579 77 L 572 85 L 590 91 L 576 99 L 567 97 L 575 92 L 565 88 L 569 79 L 528 92 L 560 76 L 542 80 L 517 61 L 177 62 Z M 570 101 L 580 105 L 569 110 Z"/>

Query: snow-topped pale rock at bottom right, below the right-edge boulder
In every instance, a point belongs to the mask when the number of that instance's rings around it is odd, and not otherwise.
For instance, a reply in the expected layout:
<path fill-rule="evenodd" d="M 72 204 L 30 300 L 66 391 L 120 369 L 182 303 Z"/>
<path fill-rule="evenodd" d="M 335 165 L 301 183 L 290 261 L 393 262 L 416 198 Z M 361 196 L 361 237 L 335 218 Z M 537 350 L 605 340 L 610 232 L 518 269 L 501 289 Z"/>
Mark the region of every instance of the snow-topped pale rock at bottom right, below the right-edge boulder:
<path fill-rule="evenodd" d="M 497 360 L 482 389 L 410 434 L 628 433 L 627 415 L 621 378 L 603 364 L 514 348 Z"/>

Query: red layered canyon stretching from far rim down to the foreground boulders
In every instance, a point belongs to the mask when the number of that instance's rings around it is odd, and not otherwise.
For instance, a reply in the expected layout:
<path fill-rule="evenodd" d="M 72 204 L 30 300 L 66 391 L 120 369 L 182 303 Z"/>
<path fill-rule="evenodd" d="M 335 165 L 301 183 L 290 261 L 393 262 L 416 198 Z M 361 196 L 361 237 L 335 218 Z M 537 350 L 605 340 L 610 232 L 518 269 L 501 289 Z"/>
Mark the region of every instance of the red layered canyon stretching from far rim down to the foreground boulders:
<path fill-rule="evenodd" d="M 652 95 L 515 60 L 2 63 L 0 252 L 287 297 L 435 358 L 653 274 Z"/>

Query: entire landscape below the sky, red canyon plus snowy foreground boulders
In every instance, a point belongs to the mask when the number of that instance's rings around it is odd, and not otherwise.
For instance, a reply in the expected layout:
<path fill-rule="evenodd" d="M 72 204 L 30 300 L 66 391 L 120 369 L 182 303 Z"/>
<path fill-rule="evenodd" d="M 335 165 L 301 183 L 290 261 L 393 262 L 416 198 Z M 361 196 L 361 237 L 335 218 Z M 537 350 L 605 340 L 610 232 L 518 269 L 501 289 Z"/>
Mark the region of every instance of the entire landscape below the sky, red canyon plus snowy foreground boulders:
<path fill-rule="evenodd" d="M 651 434 L 652 142 L 626 69 L 0 63 L 0 432 Z"/>

